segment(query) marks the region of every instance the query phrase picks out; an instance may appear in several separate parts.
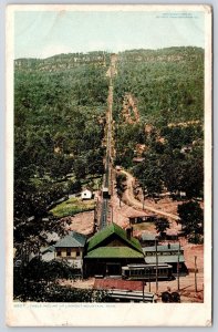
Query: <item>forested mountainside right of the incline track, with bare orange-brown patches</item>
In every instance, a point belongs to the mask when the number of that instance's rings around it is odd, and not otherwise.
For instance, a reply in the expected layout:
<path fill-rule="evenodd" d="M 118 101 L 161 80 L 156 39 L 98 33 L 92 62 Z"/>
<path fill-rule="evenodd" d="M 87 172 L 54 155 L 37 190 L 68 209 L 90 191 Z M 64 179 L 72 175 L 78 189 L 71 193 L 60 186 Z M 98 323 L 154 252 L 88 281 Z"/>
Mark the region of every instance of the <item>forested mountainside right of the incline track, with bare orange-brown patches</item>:
<path fill-rule="evenodd" d="M 144 178 L 148 194 L 203 196 L 204 50 L 118 54 L 114 118 L 116 163 Z"/>

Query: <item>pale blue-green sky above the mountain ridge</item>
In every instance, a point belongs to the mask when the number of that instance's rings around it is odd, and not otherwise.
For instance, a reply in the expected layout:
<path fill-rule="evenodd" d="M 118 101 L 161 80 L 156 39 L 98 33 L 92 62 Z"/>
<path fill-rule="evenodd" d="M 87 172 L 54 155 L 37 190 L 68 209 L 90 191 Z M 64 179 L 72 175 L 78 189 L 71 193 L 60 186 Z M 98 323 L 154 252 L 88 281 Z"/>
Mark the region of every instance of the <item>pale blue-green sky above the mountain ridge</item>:
<path fill-rule="evenodd" d="M 204 12 L 14 12 L 14 59 L 204 44 Z"/>

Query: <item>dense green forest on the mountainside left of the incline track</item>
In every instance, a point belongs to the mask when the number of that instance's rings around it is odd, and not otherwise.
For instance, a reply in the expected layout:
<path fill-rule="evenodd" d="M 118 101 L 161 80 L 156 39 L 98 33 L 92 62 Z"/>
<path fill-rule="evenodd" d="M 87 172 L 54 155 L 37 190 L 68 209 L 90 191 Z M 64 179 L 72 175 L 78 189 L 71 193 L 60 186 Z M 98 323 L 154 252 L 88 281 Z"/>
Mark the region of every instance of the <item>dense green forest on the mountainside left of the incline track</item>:
<path fill-rule="evenodd" d="M 32 216 L 43 228 L 42 219 L 52 201 L 79 191 L 85 177 L 103 173 L 107 58 L 105 53 L 93 52 L 15 60 L 14 239 L 18 242 L 32 236 Z M 39 229 L 40 226 L 35 231 Z"/>

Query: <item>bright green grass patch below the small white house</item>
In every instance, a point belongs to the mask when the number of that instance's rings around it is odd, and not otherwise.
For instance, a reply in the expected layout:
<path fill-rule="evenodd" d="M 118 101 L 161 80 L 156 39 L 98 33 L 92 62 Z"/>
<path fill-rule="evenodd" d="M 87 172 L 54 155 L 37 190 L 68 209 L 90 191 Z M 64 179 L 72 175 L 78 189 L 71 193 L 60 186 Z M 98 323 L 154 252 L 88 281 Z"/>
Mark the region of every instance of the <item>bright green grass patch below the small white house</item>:
<path fill-rule="evenodd" d="M 70 198 L 59 205 L 56 205 L 51 212 L 58 218 L 73 216 L 79 212 L 90 211 L 94 209 L 94 200 L 82 200 L 81 198 Z"/>

